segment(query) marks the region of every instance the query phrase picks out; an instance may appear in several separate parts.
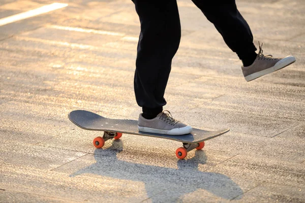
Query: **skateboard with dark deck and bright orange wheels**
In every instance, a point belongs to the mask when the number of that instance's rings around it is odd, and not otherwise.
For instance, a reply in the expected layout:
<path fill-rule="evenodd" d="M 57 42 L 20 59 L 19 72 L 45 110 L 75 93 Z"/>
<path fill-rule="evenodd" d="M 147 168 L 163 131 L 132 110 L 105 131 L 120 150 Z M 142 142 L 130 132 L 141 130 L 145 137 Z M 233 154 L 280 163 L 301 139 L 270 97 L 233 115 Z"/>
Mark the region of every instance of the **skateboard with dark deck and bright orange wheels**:
<path fill-rule="evenodd" d="M 96 148 L 102 148 L 107 140 L 120 139 L 123 133 L 134 134 L 137 136 L 163 138 L 181 142 L 183 147 L 176 150 L 176 156 L 179 159 L 184 159 L 188 152 L 193 149 L 202 149 L 204 147 L 204 141 L 221 136 L 230 130 L 227 128 L 216 131 L 207 131 L 193 128 L 193 131 L 190 134 L 172 136 L 168 134 L 139 131 L 137 120 L 110 119 L 84 110 L 72 111 L 69 113 L 68 117 L 75 125 L 85 130 L 104 131 L 103 137 L 97 137 L 93 140 L 93 145 Z"/>

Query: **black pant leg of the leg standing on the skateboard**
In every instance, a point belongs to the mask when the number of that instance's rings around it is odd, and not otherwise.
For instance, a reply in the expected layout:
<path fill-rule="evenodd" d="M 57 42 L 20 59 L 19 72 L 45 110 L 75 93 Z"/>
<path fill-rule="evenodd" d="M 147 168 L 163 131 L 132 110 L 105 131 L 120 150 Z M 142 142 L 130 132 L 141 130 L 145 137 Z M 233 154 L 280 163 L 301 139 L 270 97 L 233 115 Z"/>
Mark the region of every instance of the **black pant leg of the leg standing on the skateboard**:
<path fill-rule="evenodd" d="M 133 0 L 140 18 L 134 89 L 140 107 L 166 105 L 164 92 L 181 37 L 176 0 Z"/>

